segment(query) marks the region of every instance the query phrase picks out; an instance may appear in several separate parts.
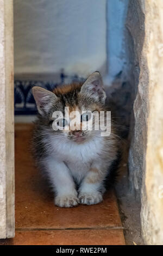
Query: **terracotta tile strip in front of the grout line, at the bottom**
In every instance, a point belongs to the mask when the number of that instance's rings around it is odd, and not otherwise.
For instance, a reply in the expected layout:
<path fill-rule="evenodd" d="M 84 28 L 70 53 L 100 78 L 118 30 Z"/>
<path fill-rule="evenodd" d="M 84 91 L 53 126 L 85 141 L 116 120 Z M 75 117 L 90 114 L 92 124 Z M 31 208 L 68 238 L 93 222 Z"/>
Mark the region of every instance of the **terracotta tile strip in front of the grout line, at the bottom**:
<path fill-rule="evenodd" d="M 0 245 L 125 245 L 122 230 L 17 231 Z"/>

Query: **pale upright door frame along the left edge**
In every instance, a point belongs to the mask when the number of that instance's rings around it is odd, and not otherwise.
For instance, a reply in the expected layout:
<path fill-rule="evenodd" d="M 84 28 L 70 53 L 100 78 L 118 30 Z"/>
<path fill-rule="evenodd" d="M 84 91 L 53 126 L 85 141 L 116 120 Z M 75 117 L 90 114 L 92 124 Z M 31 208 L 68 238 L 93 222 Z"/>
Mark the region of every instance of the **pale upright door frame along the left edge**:
<path fill-rule="evenodd" d="M 0 1 L 0 239 L 15 235 L 13 0 Z"/>

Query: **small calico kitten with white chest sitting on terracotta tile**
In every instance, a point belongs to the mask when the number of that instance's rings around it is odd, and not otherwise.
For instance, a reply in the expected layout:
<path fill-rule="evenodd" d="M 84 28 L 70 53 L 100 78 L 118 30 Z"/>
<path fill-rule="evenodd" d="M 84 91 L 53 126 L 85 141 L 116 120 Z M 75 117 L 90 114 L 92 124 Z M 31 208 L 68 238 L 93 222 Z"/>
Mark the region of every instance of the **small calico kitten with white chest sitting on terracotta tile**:
<path fill-rule="evenodd" d="M 90 205 L 101 202 L 106 176 L 111 172 L 118 152 L 118 139 L 112 124 L 110 135 L 105 136 L 102 136 L 101 128 L 95 129 L 98 121 L 95 124 L 93 120 L 92 130 L 87 126 L 92 119 L 89 113 L 109 109 L 105 105 L 106 94 L 101 75 L 93 72 L 83 84 L 61 86 L 53 92 L 33 87 L 33 95 L 39 112 L 33 133 L 34 156 L 51 182 L 55 205 L 72 207 L 79 203 Z M 80 115 L 75 129 L 71 125 L 72 119 L 67 121 L 64 118 L 65 107 L 69 107 L 69 115 L 73 111 L 78 111 Z M 52 117 L 56 111 L 60 111 L 63 117 Z M 103 119 L 106 121 L 106 117 Z M 56 120 L 59 121 L 56 123 Z M 54 121 L 55 127 L 60 123 L 59 126 L 67 129 L 53 129 Z M 83 124 L 86 127 L 84 130 L 81 129 Z"/>

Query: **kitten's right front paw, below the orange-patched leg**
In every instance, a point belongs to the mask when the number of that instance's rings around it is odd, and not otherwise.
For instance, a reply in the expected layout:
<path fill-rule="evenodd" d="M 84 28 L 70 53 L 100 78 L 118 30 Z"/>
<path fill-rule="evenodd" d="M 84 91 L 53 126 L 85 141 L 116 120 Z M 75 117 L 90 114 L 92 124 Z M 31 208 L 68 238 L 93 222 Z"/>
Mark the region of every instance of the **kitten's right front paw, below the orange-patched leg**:
<path fill-rule="evenodd" d="M 80 193 L 79 202 L 80 204 L 98 204 L 102 202 L 103 197 L 100 192 L 96 193 Z"/>

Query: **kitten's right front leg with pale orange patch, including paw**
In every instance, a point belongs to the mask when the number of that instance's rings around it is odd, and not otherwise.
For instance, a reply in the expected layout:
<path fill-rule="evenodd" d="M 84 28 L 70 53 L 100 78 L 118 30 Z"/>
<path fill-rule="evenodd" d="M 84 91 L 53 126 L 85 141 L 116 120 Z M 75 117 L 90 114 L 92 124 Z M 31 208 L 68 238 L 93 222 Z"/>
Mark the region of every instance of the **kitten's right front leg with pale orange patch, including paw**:
<path fill-rule="evenodd" d="M 103 181 L 106 170 L 92 166 L 87 172 L 82 184 L 79 187 L 79 202 L 81 204 L 98 204 L 103 200 L 105 188 Z"/>

